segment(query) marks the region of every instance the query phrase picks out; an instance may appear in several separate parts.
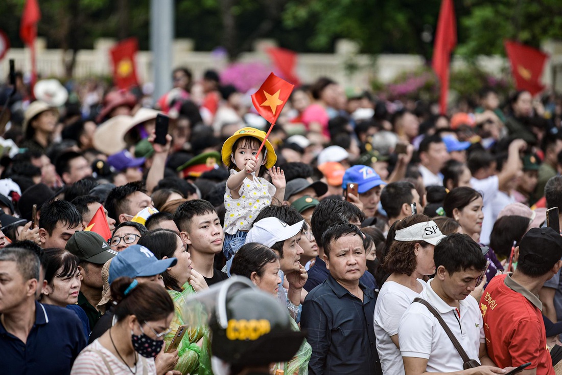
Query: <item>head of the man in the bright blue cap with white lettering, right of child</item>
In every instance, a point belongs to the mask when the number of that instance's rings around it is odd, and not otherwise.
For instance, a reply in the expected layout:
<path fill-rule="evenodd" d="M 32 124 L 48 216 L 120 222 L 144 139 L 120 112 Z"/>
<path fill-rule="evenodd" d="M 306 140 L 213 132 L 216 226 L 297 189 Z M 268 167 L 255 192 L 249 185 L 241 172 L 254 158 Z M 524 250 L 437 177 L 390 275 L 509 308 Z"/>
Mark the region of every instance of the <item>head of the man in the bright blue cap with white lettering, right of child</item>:
<path fill-rule="evenodd" d="M 366 217 L 374 217 L 380 202 L 380 191 L 382 191 L 385 182 L 380 178 L 377 172 L 367 166 L 353 166 L 348 168 L 343 175 L 342 187 L 345 191 L 349 184 L 357 185 L 357 194 L 363 212 Z M 353 198 L 351 198 L 353 199 Z"/>

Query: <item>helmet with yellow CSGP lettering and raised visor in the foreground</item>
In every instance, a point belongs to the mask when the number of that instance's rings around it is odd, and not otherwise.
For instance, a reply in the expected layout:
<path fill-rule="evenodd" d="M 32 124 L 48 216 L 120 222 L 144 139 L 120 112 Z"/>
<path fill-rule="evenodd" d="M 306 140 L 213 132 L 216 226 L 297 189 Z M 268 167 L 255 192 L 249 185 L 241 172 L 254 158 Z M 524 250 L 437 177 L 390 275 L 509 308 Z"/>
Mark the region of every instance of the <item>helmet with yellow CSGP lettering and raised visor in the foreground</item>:
<path fill-rule="evenodd" d="M 214 285 L 196 299 L 208 313 L 212 355 L 231 365 L 288 361 L 304 340 L 302 332 L 292 330 L 287 309 L 242 276 Z"/>

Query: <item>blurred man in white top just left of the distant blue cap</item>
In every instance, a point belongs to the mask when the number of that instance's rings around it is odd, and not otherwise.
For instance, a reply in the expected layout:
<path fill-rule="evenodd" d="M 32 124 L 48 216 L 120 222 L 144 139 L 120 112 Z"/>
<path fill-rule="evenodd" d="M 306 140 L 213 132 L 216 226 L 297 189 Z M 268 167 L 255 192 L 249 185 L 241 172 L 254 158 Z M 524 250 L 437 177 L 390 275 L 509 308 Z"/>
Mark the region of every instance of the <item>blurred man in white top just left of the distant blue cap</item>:
<path fill-rule="evenodd" d="M 422 173 L 423 184 L 425 186 L 443 185 L 443 175 L 439 171 L 445 166 L 450 156 L 441 136 L 437 134 L 426 136 L 420 143 L 419 157 L 419 171 Z"/>

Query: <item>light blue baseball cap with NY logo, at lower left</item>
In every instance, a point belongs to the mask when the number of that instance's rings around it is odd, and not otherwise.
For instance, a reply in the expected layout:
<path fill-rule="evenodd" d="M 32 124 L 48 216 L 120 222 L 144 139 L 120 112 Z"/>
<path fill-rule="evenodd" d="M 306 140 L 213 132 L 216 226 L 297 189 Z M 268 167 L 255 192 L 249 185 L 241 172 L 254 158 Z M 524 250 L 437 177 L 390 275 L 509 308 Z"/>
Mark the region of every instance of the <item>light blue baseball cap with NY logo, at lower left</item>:
<path fill-rule="evenodd" d="M 158 260 L 146 247 L 132 245 L 117 253 L 113 258 L 107 281 L 111 284 L 113 280 L 122 276 L 137 278 L 160 275 L 169 267 L 175 266 L 177 262 L 177 258 Z"/>

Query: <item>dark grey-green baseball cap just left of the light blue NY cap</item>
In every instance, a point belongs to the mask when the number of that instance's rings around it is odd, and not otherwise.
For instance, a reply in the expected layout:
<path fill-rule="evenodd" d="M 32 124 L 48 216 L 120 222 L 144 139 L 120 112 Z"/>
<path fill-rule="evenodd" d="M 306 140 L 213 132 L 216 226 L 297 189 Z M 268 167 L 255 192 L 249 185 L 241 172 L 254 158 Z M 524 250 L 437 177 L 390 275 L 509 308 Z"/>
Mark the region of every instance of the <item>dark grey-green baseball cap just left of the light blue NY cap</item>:
<path fill-rule="evenodd" d="M 117 255 L 101 235 L 90 231 L 74 233 L 66 243 L 65 249 L 77 256 L 80 262 L 95 264 L 105 264 Z"/>

